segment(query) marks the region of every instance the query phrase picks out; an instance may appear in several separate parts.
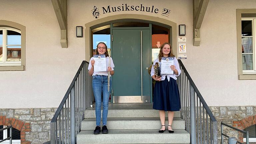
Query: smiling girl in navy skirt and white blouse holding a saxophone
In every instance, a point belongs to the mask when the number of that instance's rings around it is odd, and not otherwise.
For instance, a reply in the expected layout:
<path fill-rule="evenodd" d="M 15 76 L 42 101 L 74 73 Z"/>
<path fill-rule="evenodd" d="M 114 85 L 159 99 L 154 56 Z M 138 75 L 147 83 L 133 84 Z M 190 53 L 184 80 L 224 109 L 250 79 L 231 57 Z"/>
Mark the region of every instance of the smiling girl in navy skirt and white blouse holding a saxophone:
<path fill-rule="evenodd" d="M 177 76 L 180 75 L 180 67 L 177 58 L 172 53 L 172 48 L 169 43 L 164 43 L 159 51 L 158 59 L 154 61 L 159 62 L 161 68 L 162 57 L 174 57 L 174 65 L 170 66 L 174 74 L 163 74 L 158 77 L 154 75 L 154 68 L 151 69 L 151 77 L 156 81 L 154 88 L 154 100 L 153 109 L 159 110 L 159 116 L 161 121 L 161 129 L 159 133 L 165 131 L 165 112 L 168 111 L 168 131 L 173 133 L 172 121 L 174 117 L 174 111 L 180 110 L 180 94 L 178 85 L 176 83 Z"/>

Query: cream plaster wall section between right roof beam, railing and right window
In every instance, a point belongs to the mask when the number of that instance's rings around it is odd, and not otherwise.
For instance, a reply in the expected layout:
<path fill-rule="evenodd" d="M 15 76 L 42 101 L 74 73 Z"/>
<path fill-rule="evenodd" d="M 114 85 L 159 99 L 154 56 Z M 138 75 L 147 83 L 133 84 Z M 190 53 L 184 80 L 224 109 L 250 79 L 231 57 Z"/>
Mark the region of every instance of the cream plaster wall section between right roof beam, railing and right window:
<path fill-rule="evenodd" d="M 256 8 L 255 0 L 210 0 L 199 47 L 187 48 L 191 77 L 210 106 L 256 105 L 256 80 L 238 80 L 236 9 Z"/>

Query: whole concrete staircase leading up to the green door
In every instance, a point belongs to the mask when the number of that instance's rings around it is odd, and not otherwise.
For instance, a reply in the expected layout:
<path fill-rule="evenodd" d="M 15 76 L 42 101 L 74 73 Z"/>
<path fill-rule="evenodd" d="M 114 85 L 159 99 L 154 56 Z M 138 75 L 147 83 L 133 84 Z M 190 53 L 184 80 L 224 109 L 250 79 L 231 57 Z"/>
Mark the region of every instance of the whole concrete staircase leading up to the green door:
<path fill-rule="evenodd" d="M 77 135 L 77 144 L 190 143 L 180 112 L 174 115 L 173 134 L 168 130 L 158 133 L 161 128 L 159 113 L 152 109 L 152 104 L 109 104 L 108 134 L 93 134 L 96 123 L 94 108 L 85 110 L 85 117 L 87 119 L 82 121 L 81 132 Z M 165 125 L 167 129 L 167 113 Z"/>

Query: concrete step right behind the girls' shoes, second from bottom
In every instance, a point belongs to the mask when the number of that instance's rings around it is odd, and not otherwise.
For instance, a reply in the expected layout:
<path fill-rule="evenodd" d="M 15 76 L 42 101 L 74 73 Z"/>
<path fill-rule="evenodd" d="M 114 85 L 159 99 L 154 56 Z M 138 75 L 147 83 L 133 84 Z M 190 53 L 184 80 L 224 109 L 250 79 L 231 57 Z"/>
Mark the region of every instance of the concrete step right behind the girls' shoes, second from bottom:
<path fill-rule="evenodd" d="M 168 126 L 168 118 L 165 119 L 166 129 Z M 81 124 L 81 130 L 94 130 L 96 119 L 84 119 Z M 101 121 L 102 127 L 102 121 Z M 108 118 L 108 129 L 160 129 L 160 118 Z M 185 129 L 185 122 L 181 118 L 174 117 L 172 123 L 173 129 Z"/>

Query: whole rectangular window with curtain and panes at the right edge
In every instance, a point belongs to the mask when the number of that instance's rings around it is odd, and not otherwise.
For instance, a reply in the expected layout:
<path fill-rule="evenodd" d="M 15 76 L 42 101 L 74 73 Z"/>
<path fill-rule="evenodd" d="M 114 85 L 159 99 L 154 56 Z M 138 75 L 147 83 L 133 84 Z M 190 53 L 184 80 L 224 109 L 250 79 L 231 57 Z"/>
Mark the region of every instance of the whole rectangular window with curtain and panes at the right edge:
<path fill-rule="evenodd" d="M 256 9 L 237 9 L 238 79 L 256 80 Z"/>

